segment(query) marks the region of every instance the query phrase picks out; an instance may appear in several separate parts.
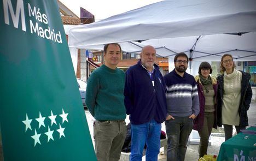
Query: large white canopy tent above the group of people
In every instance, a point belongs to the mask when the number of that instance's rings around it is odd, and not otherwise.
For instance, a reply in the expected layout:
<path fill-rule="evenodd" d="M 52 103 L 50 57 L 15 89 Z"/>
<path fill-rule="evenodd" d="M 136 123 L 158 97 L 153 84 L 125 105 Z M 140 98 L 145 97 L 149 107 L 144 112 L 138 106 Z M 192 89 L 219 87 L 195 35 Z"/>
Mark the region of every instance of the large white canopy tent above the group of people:
<path fill-rule="evenodd" d="M 228 52 L 240 61 L 252 61 L 255 31 L 254 0 L 161 1 L 73 27 L 69 47 L 102 50 L 102 44 L 122 42 L 124 52 L 153 45 L 165 57 L 185 52 L 195 60 L 219 61 Z"/>

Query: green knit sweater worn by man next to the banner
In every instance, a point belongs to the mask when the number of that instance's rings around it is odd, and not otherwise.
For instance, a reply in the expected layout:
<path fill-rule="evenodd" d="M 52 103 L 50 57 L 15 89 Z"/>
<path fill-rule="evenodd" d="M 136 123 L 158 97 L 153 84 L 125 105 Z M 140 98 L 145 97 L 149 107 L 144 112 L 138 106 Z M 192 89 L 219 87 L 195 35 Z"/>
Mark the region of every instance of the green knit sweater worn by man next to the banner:
<path fill-rule="evenodd" d="M 125 73 L 101 65 L 92 72 L 86 88 L 86 106 L 96 120 L 125 120 Z"/>

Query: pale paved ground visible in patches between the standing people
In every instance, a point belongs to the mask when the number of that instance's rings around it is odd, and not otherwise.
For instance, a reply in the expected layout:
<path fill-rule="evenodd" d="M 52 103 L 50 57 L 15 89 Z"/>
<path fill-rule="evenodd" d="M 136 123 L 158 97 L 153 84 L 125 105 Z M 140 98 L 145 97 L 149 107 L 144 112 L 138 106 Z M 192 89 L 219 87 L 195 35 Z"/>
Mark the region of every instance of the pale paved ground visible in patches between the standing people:
<path fill-rule="evenodd" d="M 251 106 L 250 106 L 249 110 L 247 111 L 247 114 L 248 114 L 249 126 L 255 125 L 256 124 L 256 117 L 255 117 L 256 116 L 256 103 L 251 103 Z M 86 119 L 88 122 L 91 138 L 92 138 L 92 143 L 94 144 L 94 139 L 93 139 L 94 117 L 91 116 L 91 114 L 88 110 L 85 110 L 85 115 L 86 115 Z M 126 117 L 125 121 L 126 121 L 126 124 L 130 122 L 129 116 Z M 165 124 L 164 123 L 162 123 L 162 130 L 165 132 Z M 233 129 L 233 133 L 235 133 L 235 129 Z M 220 145 L 222 145 L 222 143 L 224 141 L 225 141 L 224 137 L 212 135 L 211 136 L 212 143 L 210 146 L 208 146 L 207 153 L 218 156 Z M 199 145 L 191 145 L 191 144 L 188 145 L 187 153 L 185 156 L 185 161 L 193 161 L 193 160 L 199 159 L 198 147 L 199 147 Z M 158 160 L 164 161 L 164 160 L 166 160 L 166 155 L 163 155 L 163 154 L 161 155 L 161 152 L 164 152 L 164 148 L 160 149 L 160 155 L 159 155 Z M 146 160 L 145 156 L 142 158 L 142 160 Z"/>

